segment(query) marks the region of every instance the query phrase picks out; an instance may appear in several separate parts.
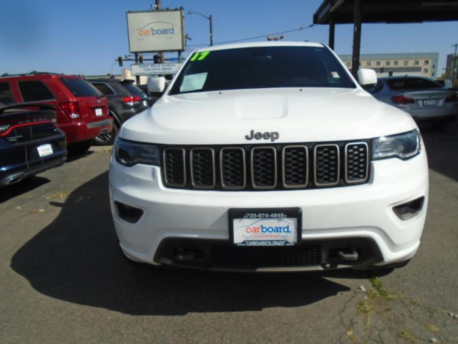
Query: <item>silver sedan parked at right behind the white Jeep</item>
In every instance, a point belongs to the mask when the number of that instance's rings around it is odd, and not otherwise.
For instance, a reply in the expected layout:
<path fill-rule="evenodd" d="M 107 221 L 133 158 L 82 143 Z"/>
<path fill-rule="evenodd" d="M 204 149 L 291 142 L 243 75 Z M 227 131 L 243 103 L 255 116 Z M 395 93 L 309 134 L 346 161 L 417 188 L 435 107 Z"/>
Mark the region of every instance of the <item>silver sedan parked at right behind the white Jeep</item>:
<path fill-rule="evenodd" d="M 444 128 L 458 116 L 458 95 L 437 82 L 419 76 L 379 78 L 367 89 L 378 100 L 402 109 L 417 122 Z"/>

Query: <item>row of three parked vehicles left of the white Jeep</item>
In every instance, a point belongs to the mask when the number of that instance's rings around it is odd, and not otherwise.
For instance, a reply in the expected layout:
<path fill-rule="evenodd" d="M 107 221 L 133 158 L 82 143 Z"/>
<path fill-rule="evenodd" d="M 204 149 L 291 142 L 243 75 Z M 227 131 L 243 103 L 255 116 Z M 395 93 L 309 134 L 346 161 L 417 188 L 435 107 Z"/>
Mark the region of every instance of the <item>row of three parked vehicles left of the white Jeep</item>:
<path fill-rule="evenodd" d="M 0 77 L 0 187 L 62 165 L 68 153 L 111 144 L 150 106 L 132 80 L 47 72 Z"/>

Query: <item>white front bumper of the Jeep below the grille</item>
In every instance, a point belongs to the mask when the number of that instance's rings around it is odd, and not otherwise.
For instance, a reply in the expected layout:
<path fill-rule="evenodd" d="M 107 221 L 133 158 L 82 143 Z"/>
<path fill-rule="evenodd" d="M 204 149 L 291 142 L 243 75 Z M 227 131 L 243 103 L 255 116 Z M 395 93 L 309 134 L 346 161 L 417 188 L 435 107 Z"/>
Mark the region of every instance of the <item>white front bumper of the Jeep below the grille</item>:
<path fill-rule="evenodd" d="M 391 264 L 409 259 L 416 252 L 426 217 L 428 166 L 426 152 L 407 161 L 396 158 L 371 162 L 366 184 L 288 191 L 194 191 L 165 188 L 158 167 L 126 168 L 110 163 L 109 188 L 113 221 L 123 252 L 129 258 L 150 264 L 179 264 L 162 259 L 170 239 L 229 242 L 228 210 L 231 208 L 302 209 L 302 242 L 361 239 L 373 243 L 372 256 L 359 264 Z M 393 206 L 425 197 L 414 218 L 402 221 Z M 122 220 L 114 201 L 143 210 L 135 223 Z M 167 239 L 167 240 L 166 240 Z M 366 244 L 364 244 L 366 245 Z M 326 243 L 325 243 L 326 246 Z M 324 250 L 323 250 L 324 251 Z M 159 252 L 159 253 L 158 253 Z M 369 259 L 370 258 L 370 259 Z M 326 258 L 327 259 L 327 258 Z M 256 270 L 320 270 L 354 264 L 321 264 L 303 267 L 263 267 Z M 212 268 L 206 264 L 202 267 Z M 234 267 L 244 270 L 243 266 Z M 231 270 L 234 270 L 231 269 Z"/>

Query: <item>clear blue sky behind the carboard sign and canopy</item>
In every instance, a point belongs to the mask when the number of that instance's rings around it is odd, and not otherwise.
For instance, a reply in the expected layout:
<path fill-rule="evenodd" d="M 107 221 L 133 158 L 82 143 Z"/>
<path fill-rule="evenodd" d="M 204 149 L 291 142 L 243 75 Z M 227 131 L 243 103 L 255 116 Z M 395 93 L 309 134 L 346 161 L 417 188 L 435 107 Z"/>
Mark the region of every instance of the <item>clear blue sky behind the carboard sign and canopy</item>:
<path fill-rule="evenodd" d="M 31 70 L 68 74 L 106 74 L 117 56 L 128 54 L 126 11 L 148 10 L 154 0 L 2 0 L 0 74 Z M 162 0 L 162 7 L 183 6 L 213 15 L 214 41 L 223 42 L 281 32 L 312 23 L 321 0 Z M 186 14 L 188 45 L 209 41 L 208 20 Z M 338 54 L 351 54 L 353 25 L 336 26 Z M 328 26 L 286 36 L 292 41 L 327 43 Z M 265 40 L 263 39 L 257 39 Z M 423 24 L 363 24 L 361 54 L 438 52 L 439 75 L 458 21 Z M 189 47 L 189 50 L 194 48 Z M 126 64 L 124 64 L 126 65 Z M 119 73 L 117 63 L 113 73 Z"/>

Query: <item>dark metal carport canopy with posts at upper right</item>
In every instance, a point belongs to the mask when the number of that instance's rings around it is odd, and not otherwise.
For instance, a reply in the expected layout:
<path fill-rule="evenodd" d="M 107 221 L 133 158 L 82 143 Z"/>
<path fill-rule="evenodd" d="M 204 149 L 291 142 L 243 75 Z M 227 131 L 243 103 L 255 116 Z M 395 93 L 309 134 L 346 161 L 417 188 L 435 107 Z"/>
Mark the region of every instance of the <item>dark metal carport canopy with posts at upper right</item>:
<path fill-rule="evenodd" d="M 334 25 L 354 23 L 352 72 L 359 67 L 361 23 L 422 23 L 458 20 L 458 0 L 324 0 L 313 24 L 329 24 L 334 49 Z"/>

